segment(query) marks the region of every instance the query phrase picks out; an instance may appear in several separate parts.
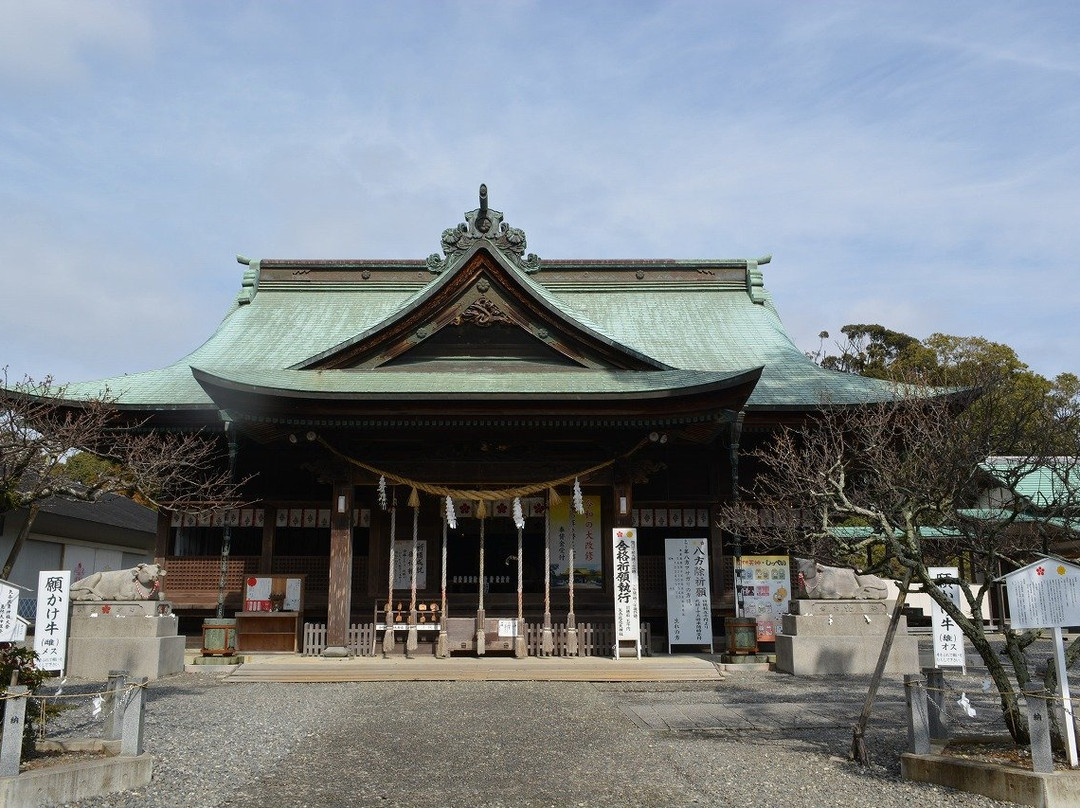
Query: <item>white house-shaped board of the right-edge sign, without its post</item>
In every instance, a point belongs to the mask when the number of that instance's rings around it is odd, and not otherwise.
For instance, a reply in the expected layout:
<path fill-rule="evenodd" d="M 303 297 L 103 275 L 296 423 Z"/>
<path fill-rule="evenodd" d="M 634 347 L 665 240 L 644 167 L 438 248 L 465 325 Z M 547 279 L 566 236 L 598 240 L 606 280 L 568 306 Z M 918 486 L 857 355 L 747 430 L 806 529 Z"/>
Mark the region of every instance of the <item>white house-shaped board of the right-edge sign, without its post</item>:
<path fill-rule="evenodd" d="M 1080 567 L 1043 558 L 1004 578 L 1011 628 L 1080 625 Z"/>

